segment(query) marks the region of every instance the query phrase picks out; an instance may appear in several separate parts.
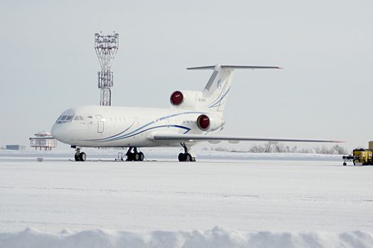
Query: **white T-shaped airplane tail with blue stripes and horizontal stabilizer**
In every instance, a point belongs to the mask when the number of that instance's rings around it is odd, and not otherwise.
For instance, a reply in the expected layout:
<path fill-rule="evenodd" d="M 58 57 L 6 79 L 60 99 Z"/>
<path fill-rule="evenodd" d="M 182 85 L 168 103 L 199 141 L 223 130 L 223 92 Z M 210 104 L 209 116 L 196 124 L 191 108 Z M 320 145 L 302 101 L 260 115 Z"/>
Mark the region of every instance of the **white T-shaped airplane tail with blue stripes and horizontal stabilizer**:
<path fill-rule="evenodd" d="M 253 67 L 253 66 L 237 66 L 237 65 L 222 65 L 208 67 L 193 67 L 187 69 L 213 69 L 210 80 L 207 82 L 205 89 L 202 91 L 202 96 L 206 98 L 206 111 L 217 112 L 222 115 L 232 79 L 234 69 L 279 69 L 280 67 Z"/>

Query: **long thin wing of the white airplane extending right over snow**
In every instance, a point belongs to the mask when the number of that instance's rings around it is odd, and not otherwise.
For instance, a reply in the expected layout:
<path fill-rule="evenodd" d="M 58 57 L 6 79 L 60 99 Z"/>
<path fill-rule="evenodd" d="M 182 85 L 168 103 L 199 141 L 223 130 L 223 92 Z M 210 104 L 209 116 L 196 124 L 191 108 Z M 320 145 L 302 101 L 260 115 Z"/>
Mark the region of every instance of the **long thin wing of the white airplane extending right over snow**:
<path fill-rule="evenodd" d="M 240 141 L 268 141 L 276 144 L 277 142 L 345 142 L 336 140 L 298 140 L 298 139 L 277 139 L 277 138 L 262 138 L 262 137 L 235 137 L 235 136 L 215 136 L 215 135 L 163 135 L 157 134 L 153 136 L 153 140 L 158 141 L 173 141 L 173 142 L 203 142 L 218 143 L 220 141 L 228 141 L 229 143 L 238 143 Z"/>

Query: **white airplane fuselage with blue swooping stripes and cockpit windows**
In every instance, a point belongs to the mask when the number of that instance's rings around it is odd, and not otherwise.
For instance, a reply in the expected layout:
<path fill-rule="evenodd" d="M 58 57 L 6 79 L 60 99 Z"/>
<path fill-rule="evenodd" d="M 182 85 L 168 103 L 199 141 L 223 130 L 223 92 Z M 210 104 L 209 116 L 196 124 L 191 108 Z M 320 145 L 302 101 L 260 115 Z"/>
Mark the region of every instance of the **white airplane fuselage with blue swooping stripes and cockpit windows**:
<path fill-rule="evenodd" d="M 224 120 L 211 130 L 201 130 L 197 120 L 205 114 L 215 115 L 177 108 L 81 106 L 63 112 L 53 125 L 52 135 L 77 147 L 180 146 L 180 142 L 151 137 L 162 133 L 210 135 L 222 130 Z"/>

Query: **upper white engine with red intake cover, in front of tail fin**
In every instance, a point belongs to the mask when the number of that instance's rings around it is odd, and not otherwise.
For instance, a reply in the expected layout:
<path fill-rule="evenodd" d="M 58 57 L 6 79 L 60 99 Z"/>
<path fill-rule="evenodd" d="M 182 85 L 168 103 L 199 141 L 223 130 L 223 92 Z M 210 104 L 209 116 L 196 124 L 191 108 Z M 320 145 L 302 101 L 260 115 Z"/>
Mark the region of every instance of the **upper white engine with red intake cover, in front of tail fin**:
<path fill-rule="evenodd" d="M 175 91 L 170 102 L 175 108 L 198 110 L 206 106 L 206 98 L 202 91 Z"/>

